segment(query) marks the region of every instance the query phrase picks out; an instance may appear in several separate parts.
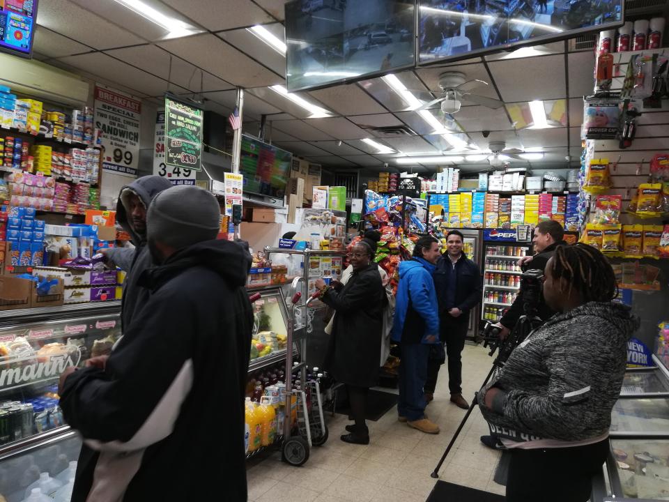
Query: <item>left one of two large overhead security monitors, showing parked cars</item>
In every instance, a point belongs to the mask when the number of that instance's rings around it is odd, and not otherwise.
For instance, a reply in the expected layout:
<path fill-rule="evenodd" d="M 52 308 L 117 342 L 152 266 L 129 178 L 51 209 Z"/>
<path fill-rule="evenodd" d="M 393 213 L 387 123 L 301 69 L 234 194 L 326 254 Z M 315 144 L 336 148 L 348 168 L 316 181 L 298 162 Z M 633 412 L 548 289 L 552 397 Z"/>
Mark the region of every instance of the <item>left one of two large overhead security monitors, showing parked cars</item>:
<path fill-rule="evenodd" d="M 353 82 L 415 64 L 415 1 L 286 3 L 289 91 Z"/>

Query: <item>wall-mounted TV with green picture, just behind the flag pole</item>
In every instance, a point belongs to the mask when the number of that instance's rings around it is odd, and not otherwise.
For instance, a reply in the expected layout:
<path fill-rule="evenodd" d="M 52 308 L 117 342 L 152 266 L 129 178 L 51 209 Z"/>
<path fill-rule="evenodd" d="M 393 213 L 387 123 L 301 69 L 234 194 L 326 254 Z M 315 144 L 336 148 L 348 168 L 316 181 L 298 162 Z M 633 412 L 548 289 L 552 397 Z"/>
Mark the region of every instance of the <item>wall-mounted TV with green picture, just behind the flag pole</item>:
<path fill-rule="evenodd" d="M 291 176 L 293 154 L 259 139 L 242 135 L 240 173 L 244 192 L 282 199 Z"/>

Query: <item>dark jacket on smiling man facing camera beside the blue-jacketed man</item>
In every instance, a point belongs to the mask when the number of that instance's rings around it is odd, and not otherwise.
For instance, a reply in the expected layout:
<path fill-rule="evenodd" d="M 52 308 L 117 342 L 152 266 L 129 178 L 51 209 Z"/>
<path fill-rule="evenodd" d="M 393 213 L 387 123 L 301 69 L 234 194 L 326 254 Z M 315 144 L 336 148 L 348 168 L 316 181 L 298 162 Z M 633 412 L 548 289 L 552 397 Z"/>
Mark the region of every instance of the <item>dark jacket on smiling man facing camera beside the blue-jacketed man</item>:
<path fill-rule="evenodd" d="M 448 318 L 454 323 L 465 324 L 469 321 L 470 310 L 481 301 L 483 288 L 481 272 L 477 264 L 468 259 L 464 253 L 461 254 L 460 259 L 455 264 L 455 306 L 462 311 L 462 314 L 459 317 L 451 317 L 446 312 L 447 305 L 445 305 L 446 290 L 448 288 L 446 268 L 450 266 L 452 266 L 451 259 L 445 254 L 437 261 L 436 268 L 432 274 L 439 305 L 439 317 L 440 319 Z"/>

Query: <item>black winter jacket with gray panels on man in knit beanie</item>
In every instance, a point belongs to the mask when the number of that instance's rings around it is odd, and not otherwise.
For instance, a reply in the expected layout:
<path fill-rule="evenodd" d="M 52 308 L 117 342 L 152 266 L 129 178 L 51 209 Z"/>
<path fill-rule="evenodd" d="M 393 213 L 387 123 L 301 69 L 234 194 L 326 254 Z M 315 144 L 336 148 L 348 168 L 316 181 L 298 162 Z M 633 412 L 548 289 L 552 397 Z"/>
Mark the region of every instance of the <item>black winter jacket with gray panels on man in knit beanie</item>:
<path fill-rule="evenodd" d="M 240 245 L 208 241 L 142 275 L 151 296 L 105 370 L 65 381 L 63 415 L 84 439 L 72 502 L 206 500 L 213 490 L 246 501 L 250 265 Z"/>

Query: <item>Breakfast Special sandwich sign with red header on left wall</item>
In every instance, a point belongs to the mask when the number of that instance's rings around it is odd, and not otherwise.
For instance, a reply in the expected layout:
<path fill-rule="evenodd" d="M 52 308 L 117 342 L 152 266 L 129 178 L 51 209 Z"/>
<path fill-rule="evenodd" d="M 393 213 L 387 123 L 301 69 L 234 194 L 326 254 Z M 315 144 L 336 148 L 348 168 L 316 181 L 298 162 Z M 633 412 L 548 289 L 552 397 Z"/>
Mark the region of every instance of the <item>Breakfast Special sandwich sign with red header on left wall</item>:
<path fill-rule="evenodd" d="M 105 149 L 102 169 L 137 178 L 140 116 L 139 99 L 95 85 L 95 127 Z"/>

